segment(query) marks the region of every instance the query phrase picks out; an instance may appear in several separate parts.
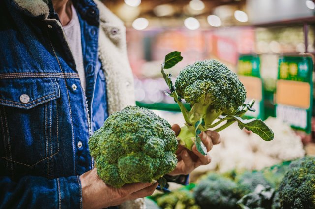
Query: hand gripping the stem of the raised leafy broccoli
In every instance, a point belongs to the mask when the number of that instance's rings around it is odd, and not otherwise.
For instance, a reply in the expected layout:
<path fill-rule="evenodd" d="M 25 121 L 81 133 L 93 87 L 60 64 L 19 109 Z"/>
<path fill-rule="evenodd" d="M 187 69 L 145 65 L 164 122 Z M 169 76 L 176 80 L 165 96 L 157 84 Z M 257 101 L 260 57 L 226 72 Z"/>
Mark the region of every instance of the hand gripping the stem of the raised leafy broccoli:
<path fill-rule="evenodd" d="M 180 127 L 177 124 L 172 126 L 173 131 L 175 131 L 176 136 L 180 132 Z M 200 133 L 200 139 L 207 148 L 209 152 L 213 145 L 219 144 L 221 138 L 219 133 L 216 131 L 206 131 Z M 206 156 L 198 152 L 196 145 L 192 146 L 192 151 L 186 149 L 183 145 L 178 145 L 178 150 L 176 151 L 178 163 L 176 168 L 169 173 L 169 175 L 179 175 L 179 174 L 189 174 L 195 168 L 200 165 L 207 165 L 211 162 L 211 157 L 209 154 Z"/>

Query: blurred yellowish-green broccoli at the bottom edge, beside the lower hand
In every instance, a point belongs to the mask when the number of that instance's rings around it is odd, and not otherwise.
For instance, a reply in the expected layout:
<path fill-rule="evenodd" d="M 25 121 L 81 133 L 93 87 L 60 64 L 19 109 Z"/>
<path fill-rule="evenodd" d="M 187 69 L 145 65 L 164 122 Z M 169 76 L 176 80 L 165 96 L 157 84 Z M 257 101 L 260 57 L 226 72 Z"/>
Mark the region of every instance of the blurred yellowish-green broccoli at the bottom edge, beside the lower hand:
<path fill-rule="evenodd" d="M 200 209 L 196 205 L 193 194 L 188 190 L 177 190 L 157 199 L 158 206 L 163 209 Z"/>

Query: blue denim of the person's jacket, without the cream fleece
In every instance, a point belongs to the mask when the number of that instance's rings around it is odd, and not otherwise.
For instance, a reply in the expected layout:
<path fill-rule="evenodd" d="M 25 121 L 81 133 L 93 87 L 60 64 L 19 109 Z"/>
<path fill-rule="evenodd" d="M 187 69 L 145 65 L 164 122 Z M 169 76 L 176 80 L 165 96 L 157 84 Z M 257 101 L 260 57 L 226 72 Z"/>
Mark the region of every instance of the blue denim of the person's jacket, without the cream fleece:
<path fill-rule="evenodd" d="M 79 175 L 93 168 L 87 142 L 107 107 L 98 10 L 92 0 L 74 4 L 86 92 L 51 2 L 45 19 L 0 1 L 0 208 L 82 207 Z"/>

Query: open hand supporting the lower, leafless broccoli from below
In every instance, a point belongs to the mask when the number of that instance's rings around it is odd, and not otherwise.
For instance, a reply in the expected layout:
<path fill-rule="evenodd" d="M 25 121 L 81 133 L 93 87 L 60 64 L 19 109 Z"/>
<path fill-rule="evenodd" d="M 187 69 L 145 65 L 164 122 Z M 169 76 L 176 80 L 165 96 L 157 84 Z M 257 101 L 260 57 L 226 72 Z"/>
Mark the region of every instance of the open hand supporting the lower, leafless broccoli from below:
<path fill-rule="evenodd" d="M 126 200 L 152 195 L 158 183 L 131 183 L 116 189 L 106 185 L 97 175 L 96 168 L 80 176 L 84 209 L 101 209 L 117 206 Z"/>

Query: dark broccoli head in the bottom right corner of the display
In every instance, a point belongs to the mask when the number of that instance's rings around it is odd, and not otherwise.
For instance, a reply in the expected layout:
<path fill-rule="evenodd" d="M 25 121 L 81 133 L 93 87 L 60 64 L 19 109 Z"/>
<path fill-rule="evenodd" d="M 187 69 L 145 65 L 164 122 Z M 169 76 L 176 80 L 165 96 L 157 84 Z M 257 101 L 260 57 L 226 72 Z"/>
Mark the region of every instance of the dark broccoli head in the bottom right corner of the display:
<path fill-rule="evenodd" d="M 314 209 L 315 157 L 293 161 L 278 192 L 281 209 Z"/>

